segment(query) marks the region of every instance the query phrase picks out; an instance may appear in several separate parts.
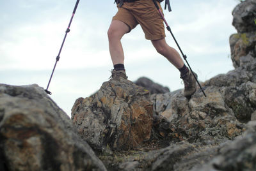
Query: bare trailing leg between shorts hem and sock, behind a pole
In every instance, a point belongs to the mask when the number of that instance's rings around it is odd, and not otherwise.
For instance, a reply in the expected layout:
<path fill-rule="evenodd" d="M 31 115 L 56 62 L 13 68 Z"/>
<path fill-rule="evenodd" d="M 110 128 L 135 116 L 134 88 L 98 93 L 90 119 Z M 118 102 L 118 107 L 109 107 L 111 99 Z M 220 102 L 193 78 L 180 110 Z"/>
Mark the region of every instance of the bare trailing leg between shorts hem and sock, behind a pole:
<path fill-rule="evenodd" d="M 180 54 L 177 50 L 166 43 L 165 38 L 161 40 L 152 40 L 152 44 L 156 48 L 157 52 L 166 57 L 166 59 L 168 59 L 168 61 L 170 61 L 170 63 L 172 63 L 177 69 L 184 66 L 184 62 L 180 57 Z"/>

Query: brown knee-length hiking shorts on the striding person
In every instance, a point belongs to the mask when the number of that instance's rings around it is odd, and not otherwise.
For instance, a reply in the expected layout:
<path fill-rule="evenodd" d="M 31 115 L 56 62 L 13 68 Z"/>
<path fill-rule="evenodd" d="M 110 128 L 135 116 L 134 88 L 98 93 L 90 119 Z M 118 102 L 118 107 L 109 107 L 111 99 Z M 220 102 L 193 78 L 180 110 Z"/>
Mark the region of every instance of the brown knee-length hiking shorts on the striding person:
<path fill-rule="evenodd" d="M 163 11 L 159 3 L 158 6 Z M 140 24 L 147 40 L 160 40 L 165 37 L 163 19 L 152 0 L 124 3 L 118 8 L 113 20 L 124 22 L 130 27 L 130 31 Z"/>

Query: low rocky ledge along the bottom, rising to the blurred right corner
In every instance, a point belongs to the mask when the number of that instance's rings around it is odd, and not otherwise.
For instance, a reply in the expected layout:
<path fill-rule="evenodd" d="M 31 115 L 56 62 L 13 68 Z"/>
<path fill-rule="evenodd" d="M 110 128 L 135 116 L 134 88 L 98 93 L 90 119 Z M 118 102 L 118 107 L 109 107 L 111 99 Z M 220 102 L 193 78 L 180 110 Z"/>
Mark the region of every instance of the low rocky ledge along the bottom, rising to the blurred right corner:
<path fill-rule="evenodd" d="M 256 169 L 255 126 L 255 121 L 247 124 L 243 135 L 220 145 L 183 141 L 156 151 L 133 151 L 113 158 L 102 155 L 100 159 L 109 170 L 253 171 Z"/>

